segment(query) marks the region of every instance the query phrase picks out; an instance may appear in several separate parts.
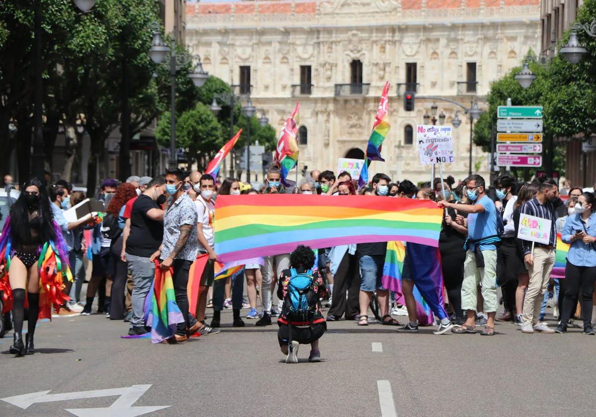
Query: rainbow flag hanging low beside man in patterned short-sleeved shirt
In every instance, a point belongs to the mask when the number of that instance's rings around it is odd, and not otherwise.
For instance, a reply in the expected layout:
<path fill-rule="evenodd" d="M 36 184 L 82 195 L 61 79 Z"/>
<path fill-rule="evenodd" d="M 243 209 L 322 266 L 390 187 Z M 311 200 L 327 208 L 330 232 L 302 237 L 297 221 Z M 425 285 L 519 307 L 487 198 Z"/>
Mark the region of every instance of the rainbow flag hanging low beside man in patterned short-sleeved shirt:
<path fill-rule="evenodd" d="M 172 269 L 162 270 L 159 262 L 155 261 L 155 277 L 151 289 L 152 305 L 147 326 L 151 327 L 151 342 L 160 343 L 173 337 L 178 323 L 184 322 L 184 316 L 176 304 Z"/>

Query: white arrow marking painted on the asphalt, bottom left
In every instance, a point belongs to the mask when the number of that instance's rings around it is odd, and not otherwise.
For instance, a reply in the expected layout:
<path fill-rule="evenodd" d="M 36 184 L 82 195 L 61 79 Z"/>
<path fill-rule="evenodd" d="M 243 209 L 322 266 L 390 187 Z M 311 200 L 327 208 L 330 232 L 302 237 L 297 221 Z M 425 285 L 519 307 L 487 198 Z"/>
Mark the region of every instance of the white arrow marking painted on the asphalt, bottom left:
<path fill-rule="evenodd" d="M 35 403 L 51 403 L 55 401 L 80 400 L 88 398 L 112 397 L 119 398 L 110 407 L 66 409 L 79 417 L 135 417 L 151 413 L 169 406 L 133 407 L 151 385 L 132 385 L 131 387 L 110 388 L 108 390 L 76 391 L 74 393 L 48 394 L 50 391 L 23 394 L 20 396 L 6 397 L 1 400 L 22 409 L 27 409 Z"/>

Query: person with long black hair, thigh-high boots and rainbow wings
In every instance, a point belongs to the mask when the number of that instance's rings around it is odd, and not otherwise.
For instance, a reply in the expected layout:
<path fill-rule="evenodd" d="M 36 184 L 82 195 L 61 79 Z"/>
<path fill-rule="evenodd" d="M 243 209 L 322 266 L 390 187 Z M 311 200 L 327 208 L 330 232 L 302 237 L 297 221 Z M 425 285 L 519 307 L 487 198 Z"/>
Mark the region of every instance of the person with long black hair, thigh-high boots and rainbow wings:
<path fill-rule="evenodd" d="M 54 222 L 44 183 L 31 178 L 22 189 L 0 239 L 0 290 L 12 296 L 14 342 L 10 353 L 17 356 L 35 353 L 38 317 L 51 318 L 52 303 L 61 306 L 69 299 L 62 292 L 63 275 L 72 280 L 66 244 Z M 29 309 L 23 342 L 25 289 Z M 41 290 L 45 296 L 40 305 Z"/>

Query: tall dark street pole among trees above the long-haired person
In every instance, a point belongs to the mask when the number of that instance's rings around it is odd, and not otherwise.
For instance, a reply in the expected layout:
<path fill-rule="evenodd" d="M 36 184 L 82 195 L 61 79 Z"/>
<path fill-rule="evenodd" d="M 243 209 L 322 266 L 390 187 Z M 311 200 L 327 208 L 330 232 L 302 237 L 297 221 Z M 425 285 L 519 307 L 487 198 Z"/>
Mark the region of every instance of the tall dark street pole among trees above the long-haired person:
<path fill-rule="evenodd" d="M 33 175 L 45 182 L 44 132 L 42 127 L 42 102 L 44 85 L 42 82 L 42 42 L 41 42 L 41 0 L 35 0 L 33 48 Z"/>

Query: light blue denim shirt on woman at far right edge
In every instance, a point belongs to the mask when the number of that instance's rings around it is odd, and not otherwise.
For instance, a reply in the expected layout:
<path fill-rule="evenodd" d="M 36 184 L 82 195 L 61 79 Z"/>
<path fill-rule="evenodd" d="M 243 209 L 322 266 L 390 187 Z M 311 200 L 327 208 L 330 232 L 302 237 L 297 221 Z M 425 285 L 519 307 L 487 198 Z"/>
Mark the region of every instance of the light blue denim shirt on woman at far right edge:
<path fill-rule="evenodd" d="M 567 221 L 563 226 L 563 233 L 561 240 L 565 243 L 571 244 L 569 252 L 567 252 L 567 260 L 575 266 L 596 266 L 596 249 L 594 244 L 586 244 L 580 240 L 571 242 L 571 238 L 575 235 L 576 230 L 588 231 L 586 235 L 596 236 L 596 213 L 592 213 L 588 217 L 588 226 L 583 221 L 581 214 L 573 214 L 567 217 Z"/>

